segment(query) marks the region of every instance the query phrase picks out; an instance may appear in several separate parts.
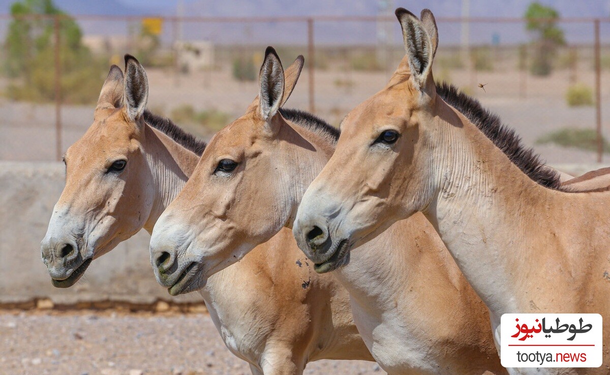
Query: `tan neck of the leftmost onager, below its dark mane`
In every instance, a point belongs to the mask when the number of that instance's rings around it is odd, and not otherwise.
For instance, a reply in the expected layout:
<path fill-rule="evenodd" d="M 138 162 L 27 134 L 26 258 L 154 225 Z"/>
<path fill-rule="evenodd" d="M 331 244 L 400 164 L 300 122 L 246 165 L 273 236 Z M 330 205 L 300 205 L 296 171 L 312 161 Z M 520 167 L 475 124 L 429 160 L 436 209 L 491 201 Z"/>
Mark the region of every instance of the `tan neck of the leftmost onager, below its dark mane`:
<path fill-rule="evenodd" d="M 146 161 L 150 170 L 152 209 L 144 228 L 152 228 L 195 170 L 199 156 L 179 145 L 163 132 L 145 125 Z"/>

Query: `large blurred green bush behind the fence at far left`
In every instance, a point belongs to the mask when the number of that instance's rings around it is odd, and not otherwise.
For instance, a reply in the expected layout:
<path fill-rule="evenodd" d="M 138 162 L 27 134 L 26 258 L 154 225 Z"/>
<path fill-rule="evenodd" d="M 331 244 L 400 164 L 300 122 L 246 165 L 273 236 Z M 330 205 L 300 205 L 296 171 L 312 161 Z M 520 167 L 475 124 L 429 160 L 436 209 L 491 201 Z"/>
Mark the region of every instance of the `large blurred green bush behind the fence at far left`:
<path fill-rule="evenodd" d="M 65 16 L 51 0 L 13 2 L 11 14 Z M 95 59 L 82 44 L 81 29 L 71 18 L 59 21 L 59 37 L 62 102 L 95 102 L 107 72 L 107 62 Z M 53 22 L 37 18 L 13 19 L 4 47 L 4 73 L 11 79 L 5 95 L 10 99 L 35 102 L 56 99 Z"/>

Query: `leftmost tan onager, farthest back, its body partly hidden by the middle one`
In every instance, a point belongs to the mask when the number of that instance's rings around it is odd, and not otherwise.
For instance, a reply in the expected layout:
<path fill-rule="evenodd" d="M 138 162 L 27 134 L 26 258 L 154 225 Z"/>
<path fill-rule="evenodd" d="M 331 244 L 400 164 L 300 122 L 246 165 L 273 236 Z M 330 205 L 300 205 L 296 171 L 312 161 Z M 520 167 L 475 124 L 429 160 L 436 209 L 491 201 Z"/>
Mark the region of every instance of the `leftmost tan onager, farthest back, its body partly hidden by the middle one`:
<path fill-rule="evenodd" d="M 298 75 L 302 64 L 289 71 Z M 142 227 L 151 232 L 195 169 L 205 144 L 145 111 L 147 98 L 137 60 L 126 57 L 124 82 L 112 66 L 93 124 L 65 154 L 66 186 L 41 245 L 58 287 Z M 318 359 L 373 360 L 345 288 L 298 262 L 305 257 L 286 229 L 210 277 L 200 292 L 226 346 L 254 374 L 301 374 Z"/>

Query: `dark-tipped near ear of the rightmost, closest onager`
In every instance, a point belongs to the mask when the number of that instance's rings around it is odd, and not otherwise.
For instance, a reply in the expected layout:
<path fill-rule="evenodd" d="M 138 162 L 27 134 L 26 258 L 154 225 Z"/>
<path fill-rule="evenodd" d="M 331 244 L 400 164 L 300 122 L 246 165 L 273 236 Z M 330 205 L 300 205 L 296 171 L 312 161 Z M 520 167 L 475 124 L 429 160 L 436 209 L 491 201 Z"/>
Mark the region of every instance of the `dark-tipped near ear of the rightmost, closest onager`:
<path fill-rule="evenodd" d="M 432 66 L 432 42 L 425 26 L 417 16 L 404 8 L 396 10 L 396 16 L 403 29 L 404 50 L 409 60 L 411 76 L 415 84 L 423 88 Z"/>

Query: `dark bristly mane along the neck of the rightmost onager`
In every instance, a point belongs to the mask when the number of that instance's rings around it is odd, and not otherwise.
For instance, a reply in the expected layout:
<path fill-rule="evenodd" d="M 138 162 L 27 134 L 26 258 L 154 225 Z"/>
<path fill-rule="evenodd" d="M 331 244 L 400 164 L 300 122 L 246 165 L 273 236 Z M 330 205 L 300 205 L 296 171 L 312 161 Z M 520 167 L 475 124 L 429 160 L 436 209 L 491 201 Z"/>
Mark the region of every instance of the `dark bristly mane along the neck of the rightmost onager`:
<path fill-rule="evenodd" d="M 447 104 L 475 124 L 530 179 L 547 188 L 564 190 L 561 188 L 559 174 L 545 165 L 533 149 L 523 146 L 515 130 L 503 124 L 495 113 L 484 109 L 478 100 L 445 82 L 436 84 L 436 92 Z"/>

